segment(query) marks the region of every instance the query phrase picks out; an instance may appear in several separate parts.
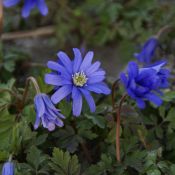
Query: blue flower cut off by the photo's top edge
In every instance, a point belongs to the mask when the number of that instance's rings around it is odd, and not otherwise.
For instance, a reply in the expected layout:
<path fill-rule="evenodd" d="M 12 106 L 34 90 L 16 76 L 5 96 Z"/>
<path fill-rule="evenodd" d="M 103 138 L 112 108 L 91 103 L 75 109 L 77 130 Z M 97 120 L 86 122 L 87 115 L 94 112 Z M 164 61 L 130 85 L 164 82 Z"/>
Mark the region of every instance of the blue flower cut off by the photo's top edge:
<path fill-rule="evenodd" d="M 20 0 L 4 0 L 5 7 L 11 7 L 18 4 Z M 24 0 L 24 6 L 22 9 L 22 16 L 27 18 L 30 15 L 30 11 L 37 7 L 42 15 L 47 15 L 48 8 L 45 3 L 45 0 Z"/>

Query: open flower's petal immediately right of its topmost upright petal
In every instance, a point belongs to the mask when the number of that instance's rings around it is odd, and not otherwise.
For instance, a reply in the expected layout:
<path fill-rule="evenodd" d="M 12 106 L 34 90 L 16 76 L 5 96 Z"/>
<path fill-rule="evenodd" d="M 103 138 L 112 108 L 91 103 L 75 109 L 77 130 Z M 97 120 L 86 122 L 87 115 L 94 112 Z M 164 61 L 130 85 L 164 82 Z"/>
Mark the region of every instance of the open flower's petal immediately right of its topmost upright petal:
<path fill-rule="evenodd" d="M 80 71 L 85 71 L 88 67 L 90 67 L 93 56 L 94 56 L 94 52 L 92 51 L 88 52 L 85 55 L 84 60 L 82 61 L 82 64 L 80 66 Z"/>

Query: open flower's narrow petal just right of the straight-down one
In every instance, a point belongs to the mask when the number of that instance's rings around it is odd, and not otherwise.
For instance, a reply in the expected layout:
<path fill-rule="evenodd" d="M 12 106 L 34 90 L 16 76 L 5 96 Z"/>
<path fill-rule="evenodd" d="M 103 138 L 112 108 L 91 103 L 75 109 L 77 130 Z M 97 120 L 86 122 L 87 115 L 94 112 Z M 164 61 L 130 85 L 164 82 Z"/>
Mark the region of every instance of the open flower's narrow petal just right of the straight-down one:
<path fill-rule="evenodd" d="M 88 90 L 82 89 L 80 88 L 81 93 L 84 95 L 91 112 L 95 112 L 96 106 L 95 106 L 95 102 L 94 99 L 92 97 L 92 95 L 90 94 L 90 92 Z"/>

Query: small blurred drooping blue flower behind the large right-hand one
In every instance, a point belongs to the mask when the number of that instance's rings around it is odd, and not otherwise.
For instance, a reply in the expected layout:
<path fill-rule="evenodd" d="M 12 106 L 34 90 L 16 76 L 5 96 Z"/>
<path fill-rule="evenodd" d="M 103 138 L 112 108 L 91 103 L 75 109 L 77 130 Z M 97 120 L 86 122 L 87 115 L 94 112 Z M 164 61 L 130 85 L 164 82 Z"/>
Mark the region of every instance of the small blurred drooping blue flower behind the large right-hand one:
<path fill-rule="evenodd" d="M 154 37 L 147 40 L 140 53 L 135 53 L 134 56 L 138 61 L 149 64 L 154 56 L 158 45 L 158 40 Z"/>

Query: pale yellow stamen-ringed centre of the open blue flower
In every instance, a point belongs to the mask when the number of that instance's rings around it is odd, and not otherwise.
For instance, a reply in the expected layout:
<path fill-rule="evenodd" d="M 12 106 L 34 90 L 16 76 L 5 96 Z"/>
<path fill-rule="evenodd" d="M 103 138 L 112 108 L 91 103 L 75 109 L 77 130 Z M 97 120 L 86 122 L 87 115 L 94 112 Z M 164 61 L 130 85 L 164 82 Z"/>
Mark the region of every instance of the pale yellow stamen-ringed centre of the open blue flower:
<path fill-rule="evenodd" d="M 86 84 L 88 78 L 86 78 L 86 75 L 84 72 L 77 72 L 74 75 L 72 75 L 73 83 L 76 86 L 84 86 Z"/>

